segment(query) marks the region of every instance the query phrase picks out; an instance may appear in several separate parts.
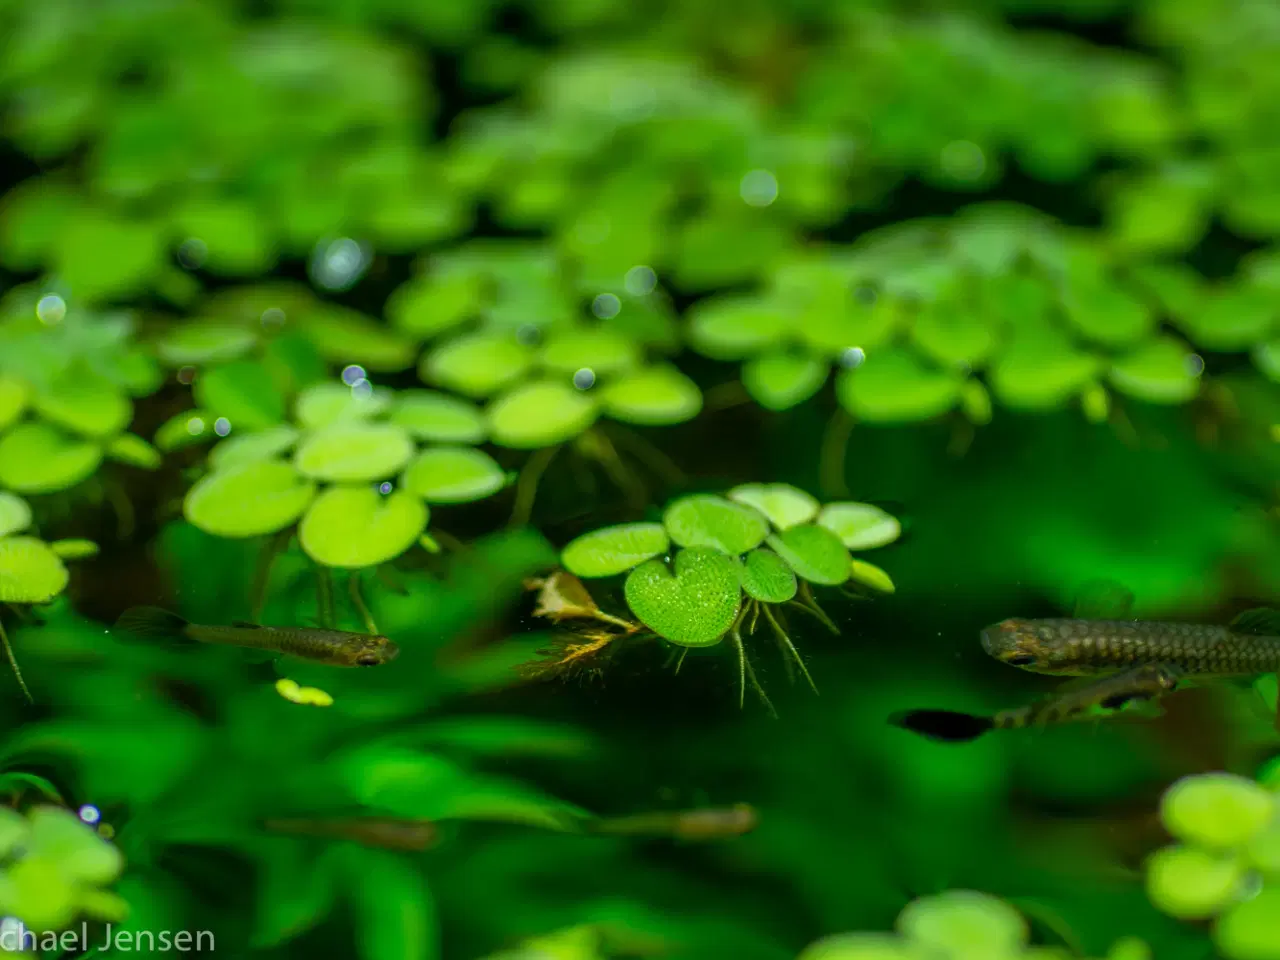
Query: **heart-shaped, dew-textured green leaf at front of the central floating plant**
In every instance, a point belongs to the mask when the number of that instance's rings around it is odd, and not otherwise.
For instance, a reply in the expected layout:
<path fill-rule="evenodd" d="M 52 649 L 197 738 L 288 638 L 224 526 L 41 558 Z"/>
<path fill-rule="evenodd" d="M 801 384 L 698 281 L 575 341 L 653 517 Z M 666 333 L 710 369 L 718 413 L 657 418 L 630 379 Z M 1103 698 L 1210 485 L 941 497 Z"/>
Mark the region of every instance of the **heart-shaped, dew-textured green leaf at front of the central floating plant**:
<path fill-rule="evenodd" d="M 645 561 L 627 575 L 627 605 L 678 646 L 712 646 L 737 620 L 742 602 L 737 571 L 735 558 L 709 547 L 677 552 L 675 572 L 660 559 Z"/>

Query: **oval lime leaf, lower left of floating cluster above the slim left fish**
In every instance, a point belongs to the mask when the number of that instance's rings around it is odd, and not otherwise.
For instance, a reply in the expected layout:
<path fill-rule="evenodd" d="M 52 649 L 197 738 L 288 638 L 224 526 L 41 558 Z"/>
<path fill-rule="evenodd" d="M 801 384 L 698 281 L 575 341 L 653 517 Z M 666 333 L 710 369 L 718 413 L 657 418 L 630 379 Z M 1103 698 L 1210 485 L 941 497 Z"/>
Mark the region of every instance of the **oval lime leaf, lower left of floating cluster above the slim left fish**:
<path fill-rule="evenodd" d="M 297 522 L 315 494 L 315 484 L 292 465 L 251 461 L 201 477 L 187 492 L 182 512 L 214 536 L 262 536 Z"/>

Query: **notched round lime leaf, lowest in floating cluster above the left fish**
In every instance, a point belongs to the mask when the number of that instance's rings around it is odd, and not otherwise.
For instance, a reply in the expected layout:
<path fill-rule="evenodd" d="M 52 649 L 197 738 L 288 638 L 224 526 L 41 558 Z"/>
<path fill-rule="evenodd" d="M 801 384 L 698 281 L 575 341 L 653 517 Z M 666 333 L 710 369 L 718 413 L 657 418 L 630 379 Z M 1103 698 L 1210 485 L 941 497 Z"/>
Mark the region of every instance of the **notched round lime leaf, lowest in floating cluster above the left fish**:
<path fill-rule="evenodd" d="M 316 563 L 358 570 L 399 557 L 426 529 L 426 506 L 412 494 L 332 486 L 311 503 L 298 541 Z"/>

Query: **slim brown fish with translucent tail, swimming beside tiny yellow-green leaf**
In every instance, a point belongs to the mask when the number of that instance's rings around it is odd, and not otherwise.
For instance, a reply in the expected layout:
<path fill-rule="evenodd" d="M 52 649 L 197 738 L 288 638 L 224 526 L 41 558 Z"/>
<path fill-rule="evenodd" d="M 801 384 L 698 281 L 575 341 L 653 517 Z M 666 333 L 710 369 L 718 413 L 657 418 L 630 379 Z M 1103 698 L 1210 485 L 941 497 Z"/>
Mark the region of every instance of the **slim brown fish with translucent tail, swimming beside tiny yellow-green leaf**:
<path fill-rule="evenodd" d="M 159 607 L 131 607 L 120 614 L 115 628 L 143 640 L 244 646 L 330 667 L 376 667 L 399 655 L 399 648 L 385 636 L 319 627 L 264 627 L 244 621 L 225 627 L 200 626 Z"/>

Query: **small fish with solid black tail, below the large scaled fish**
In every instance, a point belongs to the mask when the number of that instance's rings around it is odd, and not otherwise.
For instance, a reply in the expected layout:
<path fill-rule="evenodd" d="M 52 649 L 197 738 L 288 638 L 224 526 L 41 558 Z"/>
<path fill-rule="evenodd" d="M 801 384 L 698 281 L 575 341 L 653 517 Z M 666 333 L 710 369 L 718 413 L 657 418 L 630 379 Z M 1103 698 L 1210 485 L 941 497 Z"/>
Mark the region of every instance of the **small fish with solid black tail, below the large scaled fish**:
<path fill-rule="evenodd" d="M 895 714 L 890 722 L 931 740 L 968 742 L 992 730 L 1070 723 L 1097 718 L 1100 710 L 1120 712 L 1135 704 L 1152 703 L 1172 692 L 1180 680 L 1181 675 L 1169 664 L 1144 663 L 1039 703 L 1001 710 L 993 717 L 956 710 L 909 710 Z"/>

